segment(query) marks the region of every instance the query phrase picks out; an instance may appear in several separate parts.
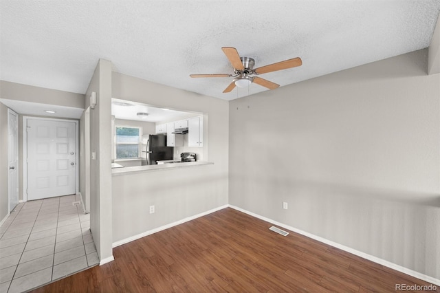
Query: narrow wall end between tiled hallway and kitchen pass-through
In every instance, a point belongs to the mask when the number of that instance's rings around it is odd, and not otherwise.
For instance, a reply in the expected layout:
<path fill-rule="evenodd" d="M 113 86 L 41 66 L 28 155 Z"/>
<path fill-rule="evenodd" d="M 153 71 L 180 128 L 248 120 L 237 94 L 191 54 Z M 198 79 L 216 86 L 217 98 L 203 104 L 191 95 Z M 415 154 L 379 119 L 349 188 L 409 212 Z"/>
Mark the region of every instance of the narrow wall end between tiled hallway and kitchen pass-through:
<path fill-rule="evenodd" d="M 98 256 L 113 259 L 111 248 L 111 62 L 100 60 L 86 91 L 96 92 L 98 104 L 90 110 L 90 151 L 96 159 L 90 162 L 90 230 Z"/>

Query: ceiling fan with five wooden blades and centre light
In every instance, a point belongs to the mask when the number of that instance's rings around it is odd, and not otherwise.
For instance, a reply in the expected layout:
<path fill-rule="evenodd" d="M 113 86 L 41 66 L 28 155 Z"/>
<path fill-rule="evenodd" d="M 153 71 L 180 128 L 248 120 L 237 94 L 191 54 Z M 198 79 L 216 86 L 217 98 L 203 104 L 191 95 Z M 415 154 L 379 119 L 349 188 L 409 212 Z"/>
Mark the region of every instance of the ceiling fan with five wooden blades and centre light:
<path fill-rule="evenodd" d="M 280 85 L 272 83 L 272 81 L 252 75 L 265 74 L 267 72 L 276 72 L 278 70 L 297 67 L 303 64 L 301 58 L 296 57 L 281 61 L 278 63 L 265 65 L 254 69 L 255 61 L 249 57 L 240 57 L 239 52 L 234 47 L 222 47 L 221 50 L 228 57 L 232 67 L 234 67 L 234 74 L 190 74 L 192 78 L 199 77 L 233 77 L 232 83 L 226 87 L 223 93 L 228 93 L 234 87 L 247 87 L 251 83 L 256 83 L 268 89 L 276 89 Z"/>

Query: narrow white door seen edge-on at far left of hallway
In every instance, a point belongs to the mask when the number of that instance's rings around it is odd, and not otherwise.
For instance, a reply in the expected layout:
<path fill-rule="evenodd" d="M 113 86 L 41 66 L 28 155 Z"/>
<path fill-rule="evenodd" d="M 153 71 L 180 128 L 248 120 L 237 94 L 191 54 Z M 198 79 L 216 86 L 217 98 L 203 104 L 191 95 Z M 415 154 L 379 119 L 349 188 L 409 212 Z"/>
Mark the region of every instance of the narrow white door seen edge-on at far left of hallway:
<path fill-rule="evenodd" d="M 8 109 L 9 211 L 19 203 L 19 116 Z"/>

